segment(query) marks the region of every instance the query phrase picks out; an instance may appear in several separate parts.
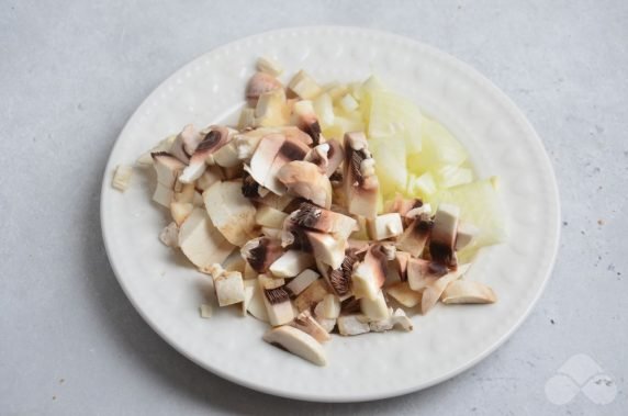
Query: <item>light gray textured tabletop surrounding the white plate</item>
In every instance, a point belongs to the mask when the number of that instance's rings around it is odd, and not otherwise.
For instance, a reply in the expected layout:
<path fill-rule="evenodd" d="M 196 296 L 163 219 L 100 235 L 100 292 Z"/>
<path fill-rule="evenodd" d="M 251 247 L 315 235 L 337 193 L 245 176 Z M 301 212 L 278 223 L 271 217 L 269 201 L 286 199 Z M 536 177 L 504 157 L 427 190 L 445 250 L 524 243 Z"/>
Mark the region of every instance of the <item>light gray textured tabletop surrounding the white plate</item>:
<path fill-rule="evenodd" d="M 311 404 L 221 380 L 143 322 L 104 254 L 102 171 L 139 102 L 203 52 L 306 24 L 388 30 L 470 63 L 554 164 L 564 223 L 543 296 L 490 358 L 420 393 Z M 0 414 L 626 414 L 627 69 L 623 0 L 0 1 Z M 554 404 L 590 359 L 607 376 Z"/>

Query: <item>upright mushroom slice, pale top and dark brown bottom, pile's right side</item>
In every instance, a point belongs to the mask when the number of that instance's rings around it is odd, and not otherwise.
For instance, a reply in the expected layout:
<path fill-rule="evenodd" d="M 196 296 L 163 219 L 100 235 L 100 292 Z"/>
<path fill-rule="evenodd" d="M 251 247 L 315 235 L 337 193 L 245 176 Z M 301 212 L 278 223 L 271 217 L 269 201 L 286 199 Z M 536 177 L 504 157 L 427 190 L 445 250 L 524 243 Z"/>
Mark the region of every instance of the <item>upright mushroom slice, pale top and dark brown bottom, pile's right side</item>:
<path fill-rule="evenodd" d="M 457 265 L 453 251 L 460 209 L 457 205 L 441 203 L 434 215 L 434 228 L 429 239 L 431 259 L 455 268 Z"/>

